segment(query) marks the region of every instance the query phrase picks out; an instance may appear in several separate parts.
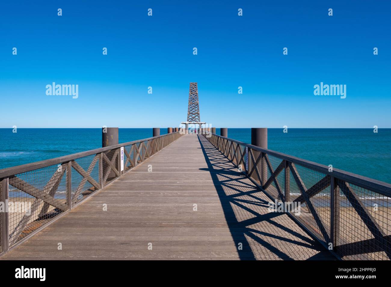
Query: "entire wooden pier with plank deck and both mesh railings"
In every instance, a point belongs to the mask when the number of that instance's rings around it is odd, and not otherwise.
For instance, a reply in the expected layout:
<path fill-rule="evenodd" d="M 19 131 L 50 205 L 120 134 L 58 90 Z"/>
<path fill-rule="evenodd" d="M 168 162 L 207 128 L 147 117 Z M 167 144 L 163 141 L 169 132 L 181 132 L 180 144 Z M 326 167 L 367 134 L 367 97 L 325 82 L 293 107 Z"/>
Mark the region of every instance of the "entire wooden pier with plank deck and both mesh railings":
<path fill-rule="evenodd" d="M 0 259 L 391 258 L 390 184 L 268 150 L 264 129 L 169 130 L 1 169 L 1 202 L 31 207 L 0 212 Z"/>

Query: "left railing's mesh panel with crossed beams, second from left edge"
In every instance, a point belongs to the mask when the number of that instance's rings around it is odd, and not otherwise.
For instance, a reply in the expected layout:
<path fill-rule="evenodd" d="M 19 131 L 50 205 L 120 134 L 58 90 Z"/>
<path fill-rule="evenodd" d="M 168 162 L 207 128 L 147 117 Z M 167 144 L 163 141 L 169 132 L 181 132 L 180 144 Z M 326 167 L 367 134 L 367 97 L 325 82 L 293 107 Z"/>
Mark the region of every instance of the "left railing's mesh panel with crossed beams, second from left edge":
<path fill-rule="evenodd" d="M 72 160 L 72 206 L 100 189 L 99 159 L 100 153 Z"/>

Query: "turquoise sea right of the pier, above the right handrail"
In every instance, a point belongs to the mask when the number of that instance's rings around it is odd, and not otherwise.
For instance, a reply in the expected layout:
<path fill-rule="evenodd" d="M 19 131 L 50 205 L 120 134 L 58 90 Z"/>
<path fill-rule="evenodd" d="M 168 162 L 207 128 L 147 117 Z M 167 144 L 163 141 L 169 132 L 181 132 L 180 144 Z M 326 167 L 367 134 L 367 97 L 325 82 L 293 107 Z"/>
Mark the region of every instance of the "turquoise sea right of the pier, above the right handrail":
<path fill-rule="evenodd" d="M 269 150 L 391 183 L 390 128 L 269 128 L 267 134 Z M 228 137 L 251 143 L 251 129 L 228 128 Z"/>

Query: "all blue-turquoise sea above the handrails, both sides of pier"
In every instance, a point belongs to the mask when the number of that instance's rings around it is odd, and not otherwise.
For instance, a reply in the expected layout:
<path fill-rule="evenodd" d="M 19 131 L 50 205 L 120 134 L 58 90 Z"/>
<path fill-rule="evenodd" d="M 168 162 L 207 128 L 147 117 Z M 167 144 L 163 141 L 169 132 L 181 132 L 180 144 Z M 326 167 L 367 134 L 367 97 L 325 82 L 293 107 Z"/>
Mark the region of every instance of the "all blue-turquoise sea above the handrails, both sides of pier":
<path fill-rule="evenodd" d="M 161 128 L 165 134 L 167 128 Z M 220 134 L 217 128 L 216 133 Z M 120 128 L 119 142 L 152 137 L 152 128 Z M 250 128 L 228 128 L 228 137 L 251 143 Z M 0 169 L 83 152 L 102 145 L 100 128 L 0 128 Z M 268 148 L 391 183 L 391 129 L 268 129 Z"/>

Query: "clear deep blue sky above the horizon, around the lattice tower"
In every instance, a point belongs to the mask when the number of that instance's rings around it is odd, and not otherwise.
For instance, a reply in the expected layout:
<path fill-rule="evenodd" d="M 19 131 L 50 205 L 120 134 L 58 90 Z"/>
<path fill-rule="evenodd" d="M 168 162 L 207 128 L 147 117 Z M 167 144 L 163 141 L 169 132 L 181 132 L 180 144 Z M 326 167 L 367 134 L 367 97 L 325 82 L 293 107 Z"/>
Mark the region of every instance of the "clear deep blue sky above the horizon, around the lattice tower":
<path fill-rule="evenodd" d="M 252 2 L 4 1 L 0 127 L 175 127 L 189 82 L 215 127 L 391 127 L 388 1 Z"/>

